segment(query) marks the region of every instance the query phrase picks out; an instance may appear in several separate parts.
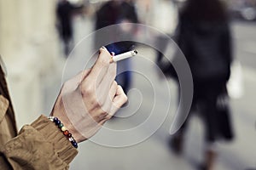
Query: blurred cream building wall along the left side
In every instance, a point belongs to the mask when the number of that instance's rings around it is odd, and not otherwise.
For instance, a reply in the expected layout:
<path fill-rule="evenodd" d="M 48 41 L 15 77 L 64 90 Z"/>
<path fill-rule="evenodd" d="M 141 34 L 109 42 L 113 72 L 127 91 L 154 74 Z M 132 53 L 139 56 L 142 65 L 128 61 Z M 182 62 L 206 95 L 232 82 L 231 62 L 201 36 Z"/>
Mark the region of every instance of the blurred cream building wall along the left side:
<path fill-rule="evenodd" d="M 0 0 L 0 54 L 8 71 L 18 127 L 42 111 L 42 80 L 58 65 L 55 3 Z"/>

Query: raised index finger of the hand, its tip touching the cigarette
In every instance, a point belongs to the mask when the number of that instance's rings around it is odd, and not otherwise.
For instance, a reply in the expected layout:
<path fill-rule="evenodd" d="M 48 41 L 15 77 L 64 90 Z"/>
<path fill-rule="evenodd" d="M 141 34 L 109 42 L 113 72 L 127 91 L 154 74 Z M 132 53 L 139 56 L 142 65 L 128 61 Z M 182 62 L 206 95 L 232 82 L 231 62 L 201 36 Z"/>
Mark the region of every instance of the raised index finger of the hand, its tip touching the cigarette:
<path fill-rule="evenodd" d="M 102 82 L 102 78 L 107 74 L 109 67 L 109 59 L 111 55 L 107 48 L 100 48 L 100 54 L 96 60 L 95 65 L 91 68 L 90 74 L 88 75 L 89 80 L 95 80 L 97 82 Z"/>

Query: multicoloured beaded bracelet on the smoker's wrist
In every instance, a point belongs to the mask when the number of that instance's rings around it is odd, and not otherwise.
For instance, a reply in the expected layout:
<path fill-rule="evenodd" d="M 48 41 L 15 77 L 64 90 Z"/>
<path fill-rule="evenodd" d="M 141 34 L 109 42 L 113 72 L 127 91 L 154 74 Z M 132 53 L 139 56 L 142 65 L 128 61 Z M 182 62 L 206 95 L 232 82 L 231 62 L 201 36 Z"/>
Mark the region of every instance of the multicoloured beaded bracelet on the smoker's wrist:
<path fill-rule="evenodd" d="M 67 139 L 71 142 L 73 147 L 75 147 L 75 148 L 79 147 L 79 144 L 76 142 L 75 139 L 73 139 L 72 134 L 68 132 L 67 128 L 64 127 L 63 123 L 61 123 L 61 121 L 57 117 L 49 116 L 48 119 L 51 122 L 55 122 L 55 125 L 61 129 L 61 132 L 67 137 Z"/>

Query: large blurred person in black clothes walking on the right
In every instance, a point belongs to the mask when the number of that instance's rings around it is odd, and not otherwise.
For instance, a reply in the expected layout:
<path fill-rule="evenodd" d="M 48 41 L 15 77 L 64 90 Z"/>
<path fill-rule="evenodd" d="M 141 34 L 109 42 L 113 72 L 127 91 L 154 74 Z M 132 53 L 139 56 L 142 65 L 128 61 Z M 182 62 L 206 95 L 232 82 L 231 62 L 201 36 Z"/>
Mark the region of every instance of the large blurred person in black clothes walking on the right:
<path fill-rule="evenodd" d="M 198 109 L 206 128 L 205 161 L 211 170 L 218 139 L 232 139 L 226 83 L 230 78 L 232 48 L 228 14 L 219 0 L 188 0 L 180 13 L 177 44 L 189 62 L 194 81 L 192 109 Z M 190 116 L 191 114 L 189 114 Z M 182 150 L 187 121 L 171 140 L 172 149 Z"/>

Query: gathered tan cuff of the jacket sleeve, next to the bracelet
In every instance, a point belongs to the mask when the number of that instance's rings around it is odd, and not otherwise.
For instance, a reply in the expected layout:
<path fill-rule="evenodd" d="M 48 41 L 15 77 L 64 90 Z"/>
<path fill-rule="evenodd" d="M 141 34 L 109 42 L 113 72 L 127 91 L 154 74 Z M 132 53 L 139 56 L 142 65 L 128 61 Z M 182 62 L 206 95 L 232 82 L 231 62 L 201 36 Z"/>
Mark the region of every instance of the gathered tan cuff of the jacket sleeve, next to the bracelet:
<path fill-rule="evenodd" d="M 39 116 L 35 122 L 32 122 L 31 126 L 37 129 L 44 136 L 45 140 L 53 144 L 57 155 L 67 164 L 73 161 L 73 158 L 78 154 L 78 150 L 73 147 L 70 141 L 61 133 L 60 129 L 55 126 L 55 123 L 51 122 L 46 116 Z"/>

